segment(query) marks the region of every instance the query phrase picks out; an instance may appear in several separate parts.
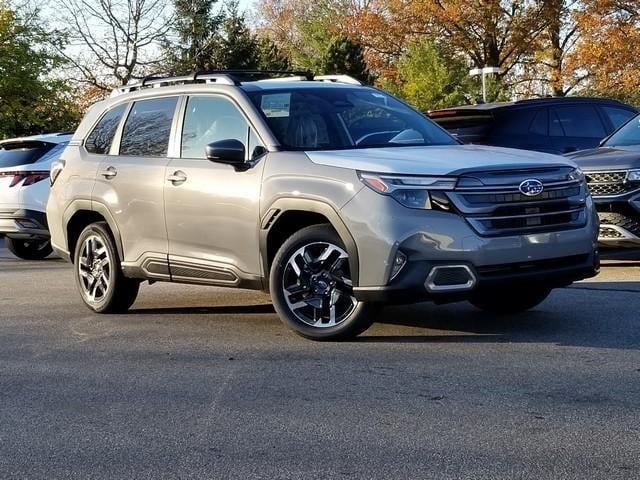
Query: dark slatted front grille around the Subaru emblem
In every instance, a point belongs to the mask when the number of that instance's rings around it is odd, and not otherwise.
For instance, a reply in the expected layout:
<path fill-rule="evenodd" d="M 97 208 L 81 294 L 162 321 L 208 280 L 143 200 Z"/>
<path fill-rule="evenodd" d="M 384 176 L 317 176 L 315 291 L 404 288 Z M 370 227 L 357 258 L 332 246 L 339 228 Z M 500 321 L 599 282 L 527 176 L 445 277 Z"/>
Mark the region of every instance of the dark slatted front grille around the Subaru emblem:
<path fill-rule="evenodd" d="M 504 178 L 496 178 L 495 173 L 468 174 L 476 185 L 461 181 L 449 197 L 458 212 L 483 236 L 580 228 L 586 224 L 587 193 L 579 180 L 567 179 L 570 171 L 566 167 L 518 171 L 505 174 Z M 543 183 L 545 189 L 540 195 L 530 197 L 520 193 L 520 183 L 530 178 Z"/>

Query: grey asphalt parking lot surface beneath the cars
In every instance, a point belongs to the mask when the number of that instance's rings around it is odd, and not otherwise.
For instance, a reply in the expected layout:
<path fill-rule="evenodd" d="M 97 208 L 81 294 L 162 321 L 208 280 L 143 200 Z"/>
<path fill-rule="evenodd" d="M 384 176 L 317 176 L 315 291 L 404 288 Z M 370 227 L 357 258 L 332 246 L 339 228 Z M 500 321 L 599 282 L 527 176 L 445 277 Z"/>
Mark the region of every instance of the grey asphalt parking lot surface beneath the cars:
<path fill-rule="evenodd" d="M 262 294 L 167 284 L 96 316 L 0 245 L 0 477 L 640 478 L 640 263 L 516 318 L 379 321 L 313 343 Z"/>

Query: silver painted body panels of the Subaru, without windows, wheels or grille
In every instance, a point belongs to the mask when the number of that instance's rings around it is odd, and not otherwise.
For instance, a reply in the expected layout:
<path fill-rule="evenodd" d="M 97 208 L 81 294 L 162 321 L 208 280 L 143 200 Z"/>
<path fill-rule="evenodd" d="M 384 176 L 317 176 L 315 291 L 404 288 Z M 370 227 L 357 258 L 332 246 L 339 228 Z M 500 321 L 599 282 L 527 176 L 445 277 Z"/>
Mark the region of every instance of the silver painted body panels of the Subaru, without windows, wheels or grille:
<path fill-rule="evenodd" d="M 266 83 L 264 88 L 275 88 L 277 82 L 268 87 Z M 305 88 L 310 82 L 297 83 L 282 82 L 280 87 Z M 236 104 L 266 149 L 266 154 L 246 170 L 179 158 L 185 97 L 214 94 Z M 140 161 L 117 154 L 126 115 L 108 155 L 87 152 L 83 142 L 105 111 L 158 96 L 180 98 L 166 158 Z M 268 288 L 270 215 L 275 223 L 278 215 L 298 211 L 322 215 L 336 229 L 352 262 L 356 291 L 386 288 L 399 249 L 407 252 L 411 262 L 425 265 L 453 262 L 480 268 L 584 256 L 581 272 L 589 265 L 595 268 L 598 226 L 586 187 L 580 193 L 584 203 L 580 226 L 486 236 L 461 215 L 407 208 L 365 187 L 358 175 L 373 172 L 458 178 L 469 172 L 510 172 L 517 186 L 536 178 L 537 171 L 573 170 L 575 164 L 570 160 L 463 145 L 281 150 L 246 92 L 237 86 L 149 88 L 99 102 L 86 114 L 63 153 L 66 166 L 52 189 L 47 209 L 54 249 L 71 258 L 78 218 L 99 216 L 114 235 L 127 276 Z M 101 175 L 109 167 L 118 169 L 111 180 Z M 167 181 L 178 171 L 187 177 L 184 183 Z M 428 273 L 424 271 L 425 279 Z M 585 276 L 588 274 L 576 274 L 576 279 Z"/>

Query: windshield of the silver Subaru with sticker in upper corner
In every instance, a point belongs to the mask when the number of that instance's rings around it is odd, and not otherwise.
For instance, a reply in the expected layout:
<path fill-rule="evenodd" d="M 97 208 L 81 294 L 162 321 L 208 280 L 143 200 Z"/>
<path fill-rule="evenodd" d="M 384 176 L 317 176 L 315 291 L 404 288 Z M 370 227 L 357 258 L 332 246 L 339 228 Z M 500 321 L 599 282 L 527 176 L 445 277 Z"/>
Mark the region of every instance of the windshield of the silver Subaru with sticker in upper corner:
<path fill-rule="evenodd" d="M 431 120 L 372 88 L 292 88 L 248 95 L 289 150 L 458 143 Z"/>

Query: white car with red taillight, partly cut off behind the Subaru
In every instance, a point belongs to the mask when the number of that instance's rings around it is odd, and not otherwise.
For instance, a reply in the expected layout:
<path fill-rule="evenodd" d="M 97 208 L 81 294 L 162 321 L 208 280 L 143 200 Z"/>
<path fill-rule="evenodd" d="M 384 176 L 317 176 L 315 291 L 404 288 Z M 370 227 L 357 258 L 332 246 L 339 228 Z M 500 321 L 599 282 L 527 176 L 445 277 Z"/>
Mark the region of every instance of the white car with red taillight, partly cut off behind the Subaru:
<path fill-rule="evenodd" d="M 46 208 L 49 170 L 72 135 L 53 133 L 0 141 L 0 237 L 17 257 L 51 253 Z"/>

